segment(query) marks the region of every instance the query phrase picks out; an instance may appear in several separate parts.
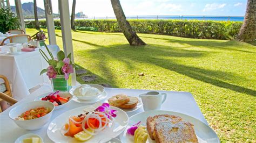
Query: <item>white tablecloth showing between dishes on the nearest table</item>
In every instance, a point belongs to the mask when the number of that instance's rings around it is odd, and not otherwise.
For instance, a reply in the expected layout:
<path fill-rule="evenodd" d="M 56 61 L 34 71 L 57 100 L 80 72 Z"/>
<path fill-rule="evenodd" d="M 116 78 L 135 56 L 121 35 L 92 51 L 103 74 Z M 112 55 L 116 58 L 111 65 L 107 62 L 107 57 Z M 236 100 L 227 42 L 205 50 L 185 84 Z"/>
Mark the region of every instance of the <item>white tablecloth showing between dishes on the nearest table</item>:
<path fill-rule="evenodd" d="M 51 88 L 46 87 L 44 85 L 37 91 L 33 92 L 31 95 L 26 96 L 22 101 L 19 101 L 16 103 L 14 106 L 22 103 L 22 102 L 30 102 L 35 99 L 36 96 L 42 95 L 46 92 L 50 92 Z M 105 90 L 107 92 L 107 98 L 124 93 L 130 96 L 138 96 L 139 94 L 142 94 L 144 92 L 147 92 L 149 90 L 134 90 L 134 89 L 117 89 L 117 88 L 106 88 Z M 203 114 L 201 113 L 200 109 L 198 108 L 197 103 L 194 101 L 193 96 L 189 92 L 175 92 L 175 91 L 160 91 L 160 92 L 165 92 L 167 94 L 166 101 L 162 105 L 161 110 L 169 110 L 169 111 L 175 111 L 175 112 L 180 112 L 184 113 L 186 115 L 192 116 L 194 118 L 197 118 L 203 123 L 207 124 L 207 121 L 205 120 Z M 74 108 L 78 108 L 80 106 L 85 106 L 88 104 L 80 104 L 76 103 L 74 101 L 71 101 L 68 105 L 66 105 L 64 108 L 53 111 L 51 120 L 55 119 L 57 116 L 59 116 L 61 113 L 65 111 L 69 111 Z M 11 106 L 11 108 L 14 108 L 14 106 Z M 19 136 L 26 134 L 26 133 L 35 133 L 40 135 L 44 142 L 52 142 L 48 136 L 47 136 L 47 128 L 48 124 L 46 124 L 43 128 L 37 130 L 37 131 L 27 131 L 22 128 L 19 128 L 14 121 L 12 121 L 8 117 L 8 113 L 10 109 L 5 110 L 3 113 L 0 114 L 0 142 L 14 142 Z M 136 112 L 129 113 L 129 117 L 134 115 L 135 113 L 138 112 L 143 112 L 143 108 L 137 110 Z"/>

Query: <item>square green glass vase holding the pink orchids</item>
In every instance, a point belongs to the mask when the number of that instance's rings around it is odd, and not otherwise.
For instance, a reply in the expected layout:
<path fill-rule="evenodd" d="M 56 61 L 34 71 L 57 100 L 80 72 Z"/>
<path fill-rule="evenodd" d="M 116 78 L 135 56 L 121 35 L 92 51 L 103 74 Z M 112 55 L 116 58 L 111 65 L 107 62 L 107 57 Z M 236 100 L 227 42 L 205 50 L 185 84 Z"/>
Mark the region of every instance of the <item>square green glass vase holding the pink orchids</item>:
<path fill-rule="evenodd" d="M 57 75 L 56 78 L 52 78 L 52 89 L 53 91 L 69 91 L 72 87 L 71 74 L 69 79 L 65 80 L 64 75 Z"/>

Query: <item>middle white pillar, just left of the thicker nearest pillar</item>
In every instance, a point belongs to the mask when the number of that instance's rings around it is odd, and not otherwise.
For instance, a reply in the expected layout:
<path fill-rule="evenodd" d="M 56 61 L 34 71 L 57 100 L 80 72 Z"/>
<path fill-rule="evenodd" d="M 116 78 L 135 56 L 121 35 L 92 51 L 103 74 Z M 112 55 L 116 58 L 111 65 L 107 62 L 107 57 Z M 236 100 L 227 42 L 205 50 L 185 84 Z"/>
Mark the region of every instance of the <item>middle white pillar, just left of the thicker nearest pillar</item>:
<path fill-rule="evenodd" d="M 51 0 L 44 0 L 45 17 L 48 31 L 48 39 L 51 45 L 56 45 L 55 26 L 52 14 Z"/>

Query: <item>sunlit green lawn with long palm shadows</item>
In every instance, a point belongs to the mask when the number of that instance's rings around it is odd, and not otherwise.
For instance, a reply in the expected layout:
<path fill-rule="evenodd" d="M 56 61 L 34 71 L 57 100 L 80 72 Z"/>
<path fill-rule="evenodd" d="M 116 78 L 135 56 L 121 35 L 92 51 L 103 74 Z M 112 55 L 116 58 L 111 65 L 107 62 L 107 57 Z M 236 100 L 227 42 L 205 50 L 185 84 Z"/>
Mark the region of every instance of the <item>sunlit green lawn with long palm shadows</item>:
<path fill-rule="evenodd" d="M 56 30 L 60 47 L 61 35 Z M 97 75 L 93 83 L 191 92 L 221 141 L 255 141 L 255 46 L 238 41 L 138 35 L 147 46 L 129 46 L 122 33 L 72 32 L 75 62 L 88 70 L 85 75 Z M 145 76 L 138 76 L 142 72 Z M 77 80 L 84 83 L 80 76 Z"/>

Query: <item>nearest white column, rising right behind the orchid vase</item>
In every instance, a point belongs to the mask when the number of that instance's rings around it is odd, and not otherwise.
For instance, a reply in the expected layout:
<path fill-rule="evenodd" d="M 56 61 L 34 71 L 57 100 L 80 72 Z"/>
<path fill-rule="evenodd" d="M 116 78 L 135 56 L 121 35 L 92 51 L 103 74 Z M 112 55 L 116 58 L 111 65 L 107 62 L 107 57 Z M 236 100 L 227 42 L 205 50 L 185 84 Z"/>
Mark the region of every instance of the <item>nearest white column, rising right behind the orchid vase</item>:
<path fill-rule="evenodd" d="M 60 25 L 62 26 L 62 42 L 63 42 L 64 53 L 66 55 L 71 53 L 71 60 L 74 63 L 70 13 L 69 13 L 69 0 L 58 0 L 58 2 L 59 2 L 59 13 L 60 13 Z M 72 74 L 72 84 L 76 85 L 76 72 Z"/>

